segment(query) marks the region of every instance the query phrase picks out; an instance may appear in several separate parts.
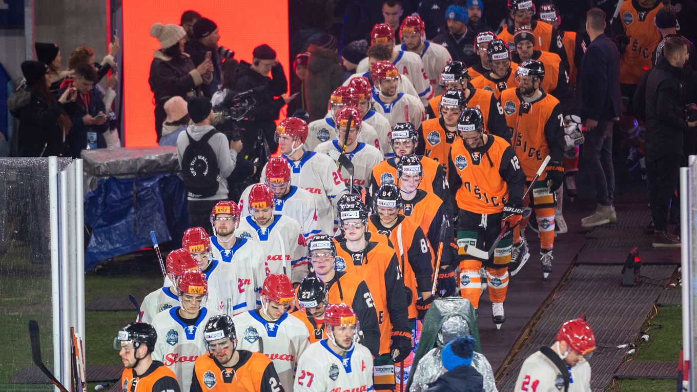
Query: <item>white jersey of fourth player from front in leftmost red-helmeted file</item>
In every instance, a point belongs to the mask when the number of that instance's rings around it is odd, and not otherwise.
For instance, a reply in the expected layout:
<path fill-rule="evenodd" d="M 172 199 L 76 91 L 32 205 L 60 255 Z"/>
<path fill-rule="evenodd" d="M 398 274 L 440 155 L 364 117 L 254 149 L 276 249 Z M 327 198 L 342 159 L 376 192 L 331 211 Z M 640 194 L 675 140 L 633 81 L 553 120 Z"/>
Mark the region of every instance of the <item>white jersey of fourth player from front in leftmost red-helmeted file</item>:
<path fill-rule="evenodd" d="M 222 264 L 229 264 L 235 270 L 237 282 L 233 289 L 242 294 L 247 310 L 256 308 L 257 293 L 261 291 L 261 285 L 266 279 L 266 252 L 261 244 L 238 236 L 232 248 L 225 249 L 218 243 L 217 237 L 212 236 L 210 257 Z"/>

